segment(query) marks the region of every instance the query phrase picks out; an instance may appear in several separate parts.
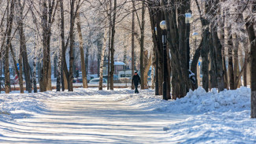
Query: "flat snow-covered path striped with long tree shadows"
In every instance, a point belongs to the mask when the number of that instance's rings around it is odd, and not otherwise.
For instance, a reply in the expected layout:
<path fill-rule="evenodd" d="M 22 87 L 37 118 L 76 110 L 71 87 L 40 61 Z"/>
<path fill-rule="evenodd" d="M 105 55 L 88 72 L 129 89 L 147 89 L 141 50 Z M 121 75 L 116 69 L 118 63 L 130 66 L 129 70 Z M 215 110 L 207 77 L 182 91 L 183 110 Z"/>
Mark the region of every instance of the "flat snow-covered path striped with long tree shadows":
<path fill-rule="evenodd" d="M 125 92 L 125 91 L 123 91 Z M 2 143 L 170 143 L 163 126 L 186 116 L 155 113 L 127 102 L 132 94 L 44 98 L 47 109 L 28 118 L 0 121 Z"/>

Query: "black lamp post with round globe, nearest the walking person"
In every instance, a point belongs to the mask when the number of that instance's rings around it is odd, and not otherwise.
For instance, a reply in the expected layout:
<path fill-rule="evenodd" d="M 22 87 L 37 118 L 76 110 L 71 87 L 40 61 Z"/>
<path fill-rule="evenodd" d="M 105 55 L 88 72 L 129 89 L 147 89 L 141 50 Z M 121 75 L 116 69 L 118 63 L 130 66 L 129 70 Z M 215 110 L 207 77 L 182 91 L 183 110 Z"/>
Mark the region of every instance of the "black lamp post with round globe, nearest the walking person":
<path fill-rule="evenodd" d="M 161 37 L 162 43 L 163 43 L 163 68 L 164 68 L 164 80 L 162 83 L 162 92 L 163 92 L 163 99 L 167 100 L 167 95 L 166 95 L 166 76 L 167 76 L 167 60 L 166 60 L 166 23 L 165 20 L 162 20 L 160 23 L 160 28 L 163 30 L 163 35 Z"/>

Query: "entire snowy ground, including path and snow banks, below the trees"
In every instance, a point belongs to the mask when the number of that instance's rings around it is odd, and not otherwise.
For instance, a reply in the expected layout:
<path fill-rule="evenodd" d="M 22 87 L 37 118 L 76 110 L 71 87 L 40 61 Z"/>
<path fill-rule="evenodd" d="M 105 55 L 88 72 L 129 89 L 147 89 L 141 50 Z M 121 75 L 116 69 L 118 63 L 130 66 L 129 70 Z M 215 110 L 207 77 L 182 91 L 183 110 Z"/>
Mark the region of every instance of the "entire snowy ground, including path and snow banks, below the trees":
<path fill-rule="evenodd" d="M 256 143 L 255 128 L 246 87 L 168 102 L 153 90 L 0 94 L 0 143 Z"/>

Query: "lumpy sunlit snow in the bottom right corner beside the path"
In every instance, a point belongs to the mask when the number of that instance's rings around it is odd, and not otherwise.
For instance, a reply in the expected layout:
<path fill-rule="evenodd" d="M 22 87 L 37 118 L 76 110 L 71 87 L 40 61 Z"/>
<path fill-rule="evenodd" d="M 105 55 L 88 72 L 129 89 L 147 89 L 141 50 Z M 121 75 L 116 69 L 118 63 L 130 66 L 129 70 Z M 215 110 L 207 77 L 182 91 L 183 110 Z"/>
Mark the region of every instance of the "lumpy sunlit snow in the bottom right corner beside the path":
<path fill-rule="evenodd" d="M 191 116 L 170 124 L 166 131 L 171 139 L 182 143 L 256 143 L 256 120 L 250 111 L 210 112 Z M 166 128 L 165 128 L 166 129 Z"/>

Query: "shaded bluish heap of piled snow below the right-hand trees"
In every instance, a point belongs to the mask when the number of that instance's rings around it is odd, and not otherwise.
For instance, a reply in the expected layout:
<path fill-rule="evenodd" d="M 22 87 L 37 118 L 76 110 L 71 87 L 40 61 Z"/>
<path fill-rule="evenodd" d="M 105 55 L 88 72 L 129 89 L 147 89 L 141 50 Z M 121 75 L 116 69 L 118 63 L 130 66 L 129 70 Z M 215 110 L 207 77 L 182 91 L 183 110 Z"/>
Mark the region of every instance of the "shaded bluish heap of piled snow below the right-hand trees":
<path fill-rule="evenodd" d="M 206 93 L 202 87 L 190 90 L 184 98 L 169 102 L 169 105 L 157 109 L 169 113 L 206 113 L 217 112 L 240 112 L 250 110 L 250 89 L 241 87 L 237 90 L 224 90 L 217 93 L 216 89 Z"/>

